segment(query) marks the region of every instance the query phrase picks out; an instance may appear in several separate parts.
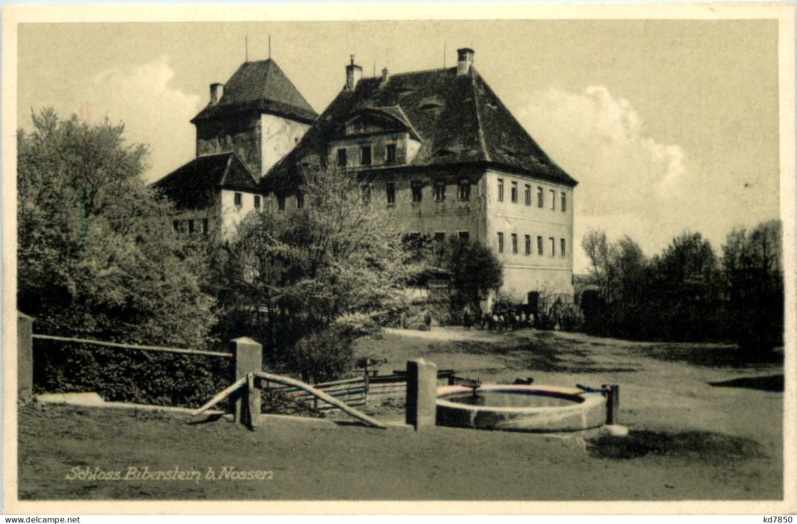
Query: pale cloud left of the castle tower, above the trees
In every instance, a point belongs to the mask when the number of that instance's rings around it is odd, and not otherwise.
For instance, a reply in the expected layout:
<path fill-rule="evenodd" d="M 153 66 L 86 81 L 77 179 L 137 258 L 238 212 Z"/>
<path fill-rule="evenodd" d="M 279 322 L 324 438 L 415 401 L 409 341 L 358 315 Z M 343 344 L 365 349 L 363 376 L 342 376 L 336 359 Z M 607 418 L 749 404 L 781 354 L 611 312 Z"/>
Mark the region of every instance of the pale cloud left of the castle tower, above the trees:
<path fill-rule="evenodd" d="M 189 120 L 201 109 L 201 100 L 173 87 L 174 77 L 165 55 L 145 64 L 106 69 L 92 79 L 87 96 L 91 104 L 84 107 L 84 117 L 121 120 L 129 142 L 150 144 L 151 168 L 145 174 L 150 182 L 194 157 Z"/>

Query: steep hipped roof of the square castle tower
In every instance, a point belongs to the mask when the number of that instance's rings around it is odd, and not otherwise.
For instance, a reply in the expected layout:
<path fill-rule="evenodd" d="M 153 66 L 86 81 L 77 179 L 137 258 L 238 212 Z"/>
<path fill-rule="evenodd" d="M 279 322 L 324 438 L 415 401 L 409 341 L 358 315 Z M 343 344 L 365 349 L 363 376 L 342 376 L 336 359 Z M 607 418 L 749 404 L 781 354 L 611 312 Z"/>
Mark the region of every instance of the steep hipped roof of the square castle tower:
<path fill-rule="evenodd" d="M 224 85 L 222 100 L 202 109 L 191 122 L 250 111 L 284 115 L 306 123 L 318 116 L 280 66 L 269 58 L 242 64 Z"/>

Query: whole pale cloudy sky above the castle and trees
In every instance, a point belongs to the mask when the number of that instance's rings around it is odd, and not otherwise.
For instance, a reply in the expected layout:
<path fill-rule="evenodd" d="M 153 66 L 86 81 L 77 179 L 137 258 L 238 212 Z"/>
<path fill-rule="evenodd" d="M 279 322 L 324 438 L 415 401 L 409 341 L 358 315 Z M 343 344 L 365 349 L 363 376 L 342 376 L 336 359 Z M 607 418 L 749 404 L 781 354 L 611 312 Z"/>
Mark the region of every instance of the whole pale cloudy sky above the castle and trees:
<path fill-rule="evenodd" d="M 715 251 L 735 227 L 779 217 L 777 22 L 514 20 L 24 24 L 18 126 L 53 107 L 124 122 L 151 146 L 147 180 L 194 158 L 189 120 L 245 60 L 271 57 L 316 111 L 350 54 L 370 76 L 451 67 L 456 49 L 575 190 L 590 229 L 646 255 L 689 230 Z M 445 53 L 444 53 L 445 49 Z M 574 268 L 587 259 L 575 251 Z"/>

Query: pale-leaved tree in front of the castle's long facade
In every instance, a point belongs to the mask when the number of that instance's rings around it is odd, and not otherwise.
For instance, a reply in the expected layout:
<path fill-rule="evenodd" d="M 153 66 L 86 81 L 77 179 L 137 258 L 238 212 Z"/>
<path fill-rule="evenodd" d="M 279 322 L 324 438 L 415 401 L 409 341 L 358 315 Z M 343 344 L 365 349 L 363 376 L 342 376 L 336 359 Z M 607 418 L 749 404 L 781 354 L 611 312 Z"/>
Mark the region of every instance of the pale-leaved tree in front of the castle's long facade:
<path fill-rule="evenodd" d="M 274 362 L 320 381 L 347 369 L 355 338 L 406 307 L 406 253 L 387 214 L 361 198 L 355 174 L 308 167 L 299 190 L 303 209 L 241 222 L 222 275 L 236 290 L 228 328 L 249 330 Z"/>

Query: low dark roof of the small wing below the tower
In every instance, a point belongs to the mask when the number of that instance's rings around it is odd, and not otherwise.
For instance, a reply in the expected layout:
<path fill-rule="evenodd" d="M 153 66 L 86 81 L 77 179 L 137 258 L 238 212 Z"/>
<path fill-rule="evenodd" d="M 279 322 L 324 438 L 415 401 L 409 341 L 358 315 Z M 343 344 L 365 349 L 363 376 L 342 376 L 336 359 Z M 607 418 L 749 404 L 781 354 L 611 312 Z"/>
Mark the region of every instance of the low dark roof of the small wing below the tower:
<path fill-rule="evenodd" d="M 152 188 L 166 194 L 178 209 L 200 209 L 210 205 L 217 190 L 257 191 L 257 182 L 238 154 L 206 154 L 180 166 Z"/>

